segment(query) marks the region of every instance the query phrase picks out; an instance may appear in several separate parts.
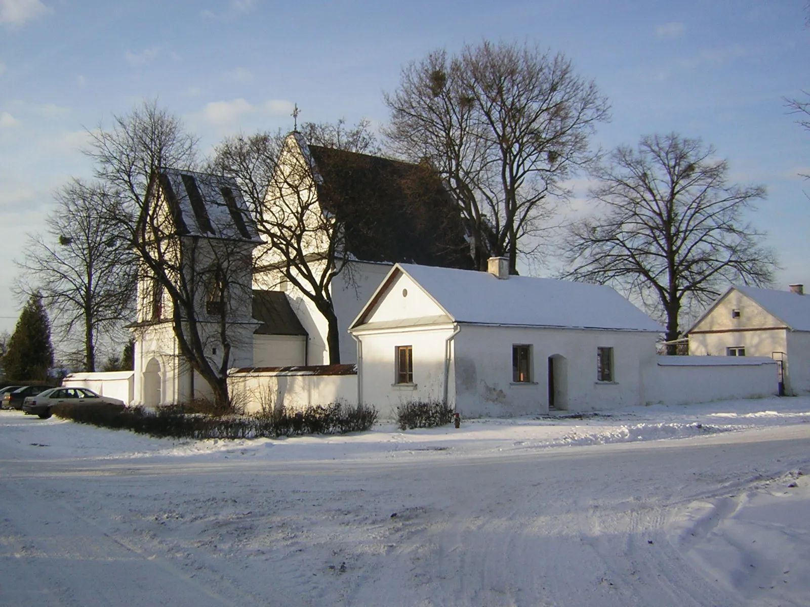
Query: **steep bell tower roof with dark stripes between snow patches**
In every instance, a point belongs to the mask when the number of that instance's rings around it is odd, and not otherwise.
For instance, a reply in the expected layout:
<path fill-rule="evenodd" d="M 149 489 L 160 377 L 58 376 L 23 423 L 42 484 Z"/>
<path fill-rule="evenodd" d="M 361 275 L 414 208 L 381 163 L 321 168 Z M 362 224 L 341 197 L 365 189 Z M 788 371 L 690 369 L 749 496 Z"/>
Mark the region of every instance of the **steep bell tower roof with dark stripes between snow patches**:
<path fill-rule="evenodd" d="M 173 168 L 162 170 L 154 180 L 182 236 L 258 240 L 256 224 L 235 180 Z"/>

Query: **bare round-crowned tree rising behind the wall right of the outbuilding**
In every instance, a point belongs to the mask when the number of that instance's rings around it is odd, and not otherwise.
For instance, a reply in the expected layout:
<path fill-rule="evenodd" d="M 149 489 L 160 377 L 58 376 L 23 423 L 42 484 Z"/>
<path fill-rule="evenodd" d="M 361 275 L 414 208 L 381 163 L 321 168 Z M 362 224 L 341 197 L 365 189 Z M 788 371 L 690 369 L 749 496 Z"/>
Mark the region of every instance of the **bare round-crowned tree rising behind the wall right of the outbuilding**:
<path fill-rule="evenodd" d="M 767 285 L 776 267 L 762 233 L 744 219 L 765 189 L 729 184 L 727 162 L 714 155 L 700 139 L 676 134 L 618 147 L 595 171 L 591 197 L 603 213 L 569 234 L 566 277 L 640 295 L 663 312 L 667 341 L 680 337 L 684 303 L 706 304 L 724 282 Z"/>

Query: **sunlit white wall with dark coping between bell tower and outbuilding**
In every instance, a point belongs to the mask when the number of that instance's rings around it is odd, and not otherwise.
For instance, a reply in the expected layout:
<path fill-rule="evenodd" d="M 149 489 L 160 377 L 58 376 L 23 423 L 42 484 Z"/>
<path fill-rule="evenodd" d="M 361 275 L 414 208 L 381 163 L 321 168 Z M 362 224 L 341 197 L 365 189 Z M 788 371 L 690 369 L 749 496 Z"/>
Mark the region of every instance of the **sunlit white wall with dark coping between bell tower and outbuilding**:
<path fill-rule="evenodd" d="M 262 408 L 302 410 L 309 405 L 343 401 L 357 404 L 356 365 L 258 367 L 232 371 L 233 401 L 251 413 Z"/>

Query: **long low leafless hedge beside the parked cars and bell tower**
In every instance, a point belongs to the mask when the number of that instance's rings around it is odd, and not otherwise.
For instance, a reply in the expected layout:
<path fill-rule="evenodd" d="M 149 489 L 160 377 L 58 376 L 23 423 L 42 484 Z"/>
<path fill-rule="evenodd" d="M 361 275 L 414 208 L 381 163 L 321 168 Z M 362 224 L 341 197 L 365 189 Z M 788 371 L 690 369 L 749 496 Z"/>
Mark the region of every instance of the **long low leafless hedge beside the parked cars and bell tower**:
<path fill-rule="evenodd" d="M 123 409 L 113 405 L 55 405 L 52 413 L 74 422 L 130 430 L 159 438 L 256 439 L 305 434 L 345 434 L 369 430 L 377 410 L 364 405 L 332 403 L 303 411 L 276 410 L 254 415 L 211 416 L 188 414 L 177 405 L 156 413 L 141 407 Z"/>

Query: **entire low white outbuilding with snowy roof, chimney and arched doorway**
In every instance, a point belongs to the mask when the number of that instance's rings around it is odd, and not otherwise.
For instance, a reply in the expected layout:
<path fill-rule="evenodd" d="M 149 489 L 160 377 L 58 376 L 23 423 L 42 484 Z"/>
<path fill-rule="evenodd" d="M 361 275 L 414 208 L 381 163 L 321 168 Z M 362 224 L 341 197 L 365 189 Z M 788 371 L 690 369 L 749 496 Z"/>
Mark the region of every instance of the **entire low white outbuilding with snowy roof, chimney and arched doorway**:
<path fill-rule="evenodd" d="M 397 264 L 352 323 L 358 400 L 465 416 L 604 410 L 646 402 L 661 326 L 610 287 Z"/>

